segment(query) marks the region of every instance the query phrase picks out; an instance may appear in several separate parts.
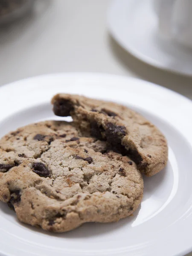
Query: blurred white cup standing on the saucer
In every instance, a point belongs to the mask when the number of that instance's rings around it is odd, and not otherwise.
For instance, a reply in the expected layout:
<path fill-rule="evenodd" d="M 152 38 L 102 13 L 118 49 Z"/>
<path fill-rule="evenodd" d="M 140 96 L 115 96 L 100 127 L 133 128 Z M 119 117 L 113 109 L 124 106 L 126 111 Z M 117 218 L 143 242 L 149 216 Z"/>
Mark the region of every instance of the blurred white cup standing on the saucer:
<path fill-rule="evenodd" d="M 153 0 L 153 3 L 163 38 L 192 47 L 192 0 Z"/>

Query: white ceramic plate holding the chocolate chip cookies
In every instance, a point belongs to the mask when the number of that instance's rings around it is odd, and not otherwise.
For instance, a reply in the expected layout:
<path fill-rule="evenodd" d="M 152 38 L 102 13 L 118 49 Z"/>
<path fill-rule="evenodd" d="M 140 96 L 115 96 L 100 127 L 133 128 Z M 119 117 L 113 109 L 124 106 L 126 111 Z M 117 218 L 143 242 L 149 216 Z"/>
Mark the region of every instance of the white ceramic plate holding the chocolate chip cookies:
<path fill-rule="evenodd" d="M 0 255 L 166 256 L 192 250 L 192 102 L 146 81 L 68 73 L 39 76 L 0 87 L 0 136 L 19 126 L 55 119 L 55 93 L 79 93 L 128 105 L 157 125 L 169 142 L 166 168 L 144 177 L 144 197 L 134 216 L 111 224 L 84 224 L 51 234 L 21 224 L 0 203 Z M 58 118 L 56 118 L 58 119 Z"/>

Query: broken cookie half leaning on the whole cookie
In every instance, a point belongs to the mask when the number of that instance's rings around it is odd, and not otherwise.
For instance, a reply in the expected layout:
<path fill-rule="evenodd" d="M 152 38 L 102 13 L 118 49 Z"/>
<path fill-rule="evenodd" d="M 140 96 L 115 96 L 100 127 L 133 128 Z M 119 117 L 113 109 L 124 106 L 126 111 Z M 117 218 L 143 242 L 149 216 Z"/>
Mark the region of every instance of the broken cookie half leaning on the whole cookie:
<path fill-rule="evenodd" d="M 107 141 L 108 147 L 129 156 L 141 172 L 152 176 L 167 163 L 163 134 L 139 113 L 112 102 L 57 94 L 52 99 L 57 116 L 72 116 L 86 136 Z"/>

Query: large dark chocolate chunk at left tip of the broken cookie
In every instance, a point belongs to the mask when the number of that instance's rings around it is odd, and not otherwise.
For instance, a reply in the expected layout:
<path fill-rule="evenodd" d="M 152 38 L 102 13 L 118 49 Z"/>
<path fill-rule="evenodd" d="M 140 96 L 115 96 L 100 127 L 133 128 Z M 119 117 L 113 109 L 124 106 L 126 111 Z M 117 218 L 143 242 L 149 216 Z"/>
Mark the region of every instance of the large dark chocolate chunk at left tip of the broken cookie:
<path fill-rule="evenodd" d="M 53 104 L 53 112 L 56 116 L 70 116 L 73 109 L 72 103 L 67 99 L 56 100 Z"/>

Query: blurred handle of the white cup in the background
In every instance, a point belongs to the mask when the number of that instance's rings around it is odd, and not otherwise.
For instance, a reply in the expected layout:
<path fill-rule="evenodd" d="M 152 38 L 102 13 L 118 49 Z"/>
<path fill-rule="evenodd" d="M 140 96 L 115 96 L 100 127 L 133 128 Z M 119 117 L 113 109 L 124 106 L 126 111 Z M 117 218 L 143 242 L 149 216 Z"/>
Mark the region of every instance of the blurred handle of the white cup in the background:
<path fill-rule="evenodd" d="M 172 38 L 173 14 L 177 0 L 162 0 L 159 6 L 159 29 L 167 39 Z"/>

